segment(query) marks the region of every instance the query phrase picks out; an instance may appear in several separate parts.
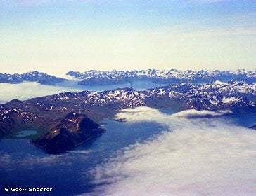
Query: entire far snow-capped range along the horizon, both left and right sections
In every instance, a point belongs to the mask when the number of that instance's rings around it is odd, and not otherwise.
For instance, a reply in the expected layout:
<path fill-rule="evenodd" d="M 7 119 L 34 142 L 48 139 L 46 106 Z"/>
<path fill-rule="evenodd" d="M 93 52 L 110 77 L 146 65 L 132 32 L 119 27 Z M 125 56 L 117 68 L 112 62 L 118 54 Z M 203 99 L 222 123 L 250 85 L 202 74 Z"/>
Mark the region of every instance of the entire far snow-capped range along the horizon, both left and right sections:
<path fill-rule="evenodd" d="M 133 83 L 134 80 L 149 80 L 153 83 L 210 83 L 215 80 L 227 82 L 229 80 L 241 80 L 247 83 L 256 82 L 256 71 L 180 71 L 177 69 L 157 70 L 148 69 L 141 71 L 69 71 L 68 76 L 76 78 L 80 85 L 118 85 Z M 38 71 L 23 74 L 0 73 L 0 83 L 23 83 L 25 81 L 37 82 L 44 85 L 53 85 L 66 81 L 65 78 L 50 76 Z"/>

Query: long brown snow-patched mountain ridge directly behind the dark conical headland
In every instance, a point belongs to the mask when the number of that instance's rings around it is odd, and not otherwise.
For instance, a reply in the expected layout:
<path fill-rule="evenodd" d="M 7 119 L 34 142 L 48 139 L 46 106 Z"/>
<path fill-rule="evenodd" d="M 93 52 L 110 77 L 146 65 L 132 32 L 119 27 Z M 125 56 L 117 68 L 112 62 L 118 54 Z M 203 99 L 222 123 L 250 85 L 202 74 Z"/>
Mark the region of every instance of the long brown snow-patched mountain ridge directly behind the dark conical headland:
<path fill-rule="evenodd" d="M 229 110 L 233 113 L 256 112 L 256 83 L 215 81 L 207 84 L 180 83 L 136 91 L 126 87 L 103 92 L 65 92 L 26 101 L 13 100 L 0 105 L 0 130 L 5 127 L 41 126 L 63 118 L 67 113 L 86 114 L 92 120 L 111 118 L 120 109 L 149 106 L 183 111 Z M 25 122 L 25 123 L 23 123 Z M 19 125 L 20 124 L 20 125 Z"/>

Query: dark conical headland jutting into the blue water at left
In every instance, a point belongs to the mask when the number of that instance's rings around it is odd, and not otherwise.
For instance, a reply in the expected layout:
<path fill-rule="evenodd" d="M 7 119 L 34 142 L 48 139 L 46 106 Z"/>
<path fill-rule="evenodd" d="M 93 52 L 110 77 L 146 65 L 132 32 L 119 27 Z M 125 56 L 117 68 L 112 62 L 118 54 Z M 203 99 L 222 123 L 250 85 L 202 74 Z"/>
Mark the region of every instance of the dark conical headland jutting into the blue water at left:
<path fill-rule="evenodd" d="M 104 132 L 100 125 L 87 116 L 73 112 L 56 120 L 49 130 L 31 142 L 48 153 L 62 153 Z"/>

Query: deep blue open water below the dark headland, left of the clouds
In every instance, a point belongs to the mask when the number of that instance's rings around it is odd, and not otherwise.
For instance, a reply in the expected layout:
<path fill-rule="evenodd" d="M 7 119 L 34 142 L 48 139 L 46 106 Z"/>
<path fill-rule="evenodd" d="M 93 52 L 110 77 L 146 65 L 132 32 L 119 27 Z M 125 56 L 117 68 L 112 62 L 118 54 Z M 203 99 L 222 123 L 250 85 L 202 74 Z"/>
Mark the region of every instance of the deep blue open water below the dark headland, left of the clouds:
<path fill-rule="evenodd" d="M 52 188 L 51 193 L 43 195 L 89 193 L 95 188 L 90 183 L 89 169 L 115 156 L 119 149 L 165 130 L 158 123 L 129 124 L 115 120 L 103 123 L 107 132 L 101 137 L 58 155 L 41 151 L 28 139 L 1 140 L 0 195 L 18 195 L 11 188 Z M 27 190 L 23 193 L 32 194 Z"/>

